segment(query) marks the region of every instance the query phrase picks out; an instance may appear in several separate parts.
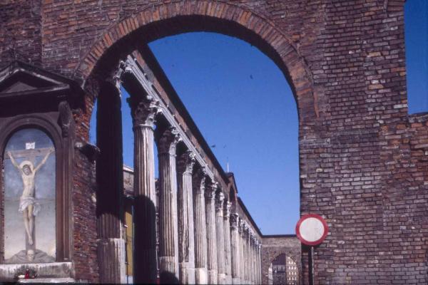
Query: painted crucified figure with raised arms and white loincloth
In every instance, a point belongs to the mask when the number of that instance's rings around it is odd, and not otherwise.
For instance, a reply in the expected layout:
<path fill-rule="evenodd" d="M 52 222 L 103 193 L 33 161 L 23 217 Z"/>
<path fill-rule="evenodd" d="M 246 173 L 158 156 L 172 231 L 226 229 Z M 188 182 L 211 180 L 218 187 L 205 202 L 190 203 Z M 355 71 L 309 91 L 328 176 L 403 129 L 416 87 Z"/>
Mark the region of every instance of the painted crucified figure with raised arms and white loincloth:
<path fill-rule="evenodd" d="M 19 212 L 24 216 L 25 231 L 30 245 L 33 244 L 34 217 L 40 211 L 40 204 L 36 202 L 34 197 L 34 190 L 36 188 L 34 177 L 36 176 L 36 172 L 46 163 L 52 152 L 54 152 L 54 149 L 49 150 L 37 167 L 34 167 L 33 163 L 29 160 L 24 160 L 18 164 L 11 152 L 7 152 L 12 164 L 19 170 L 24 185 L 22 195 L 19 197 Z"/>

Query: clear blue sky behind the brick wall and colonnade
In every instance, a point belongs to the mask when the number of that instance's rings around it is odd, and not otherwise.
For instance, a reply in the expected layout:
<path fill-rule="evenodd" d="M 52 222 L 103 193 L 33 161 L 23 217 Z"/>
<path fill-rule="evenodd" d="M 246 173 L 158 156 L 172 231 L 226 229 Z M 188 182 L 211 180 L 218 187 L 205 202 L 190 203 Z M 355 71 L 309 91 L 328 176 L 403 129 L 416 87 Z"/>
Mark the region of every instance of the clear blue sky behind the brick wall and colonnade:
<path fill-rule="evenodd" d="M 428 111 L 427 3 L 409 0 L 405 10 L 409 113 Z M 238 195 L 263 234 L 294 233 L 297 109 L 279 68 L 249 43 L 218 33 L 184 33 L 149 46 L 220 164 L 235 173 Z M 127 96 L 123 92 L 123 160 L 132 166 Z"/>

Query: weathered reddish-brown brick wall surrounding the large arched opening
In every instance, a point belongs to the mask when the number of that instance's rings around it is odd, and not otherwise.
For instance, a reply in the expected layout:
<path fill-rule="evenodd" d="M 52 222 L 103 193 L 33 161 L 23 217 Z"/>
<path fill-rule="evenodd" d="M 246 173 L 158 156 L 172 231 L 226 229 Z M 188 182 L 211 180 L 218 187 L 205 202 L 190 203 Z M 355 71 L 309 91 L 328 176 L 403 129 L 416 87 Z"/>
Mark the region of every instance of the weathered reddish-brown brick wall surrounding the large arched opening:
<path fill-rule="evenodd" d="M 428 125 L 407 115 L 403 9 L 404 0 L 6 1 L 0 67 L 13 53 L 81 83 L 76 131 L 88 140 L 97 76 L 141 41 L 198 30 L 249 41 L 295 93 L 300 209 L 330 227 L 317 284 L 427 284 Z M 76 156 L 75 227 L 80 217 L 95 227 L 92 206 L 76 204 L 93 192 L 89 169 Z M 95 237 L 78 232 L 76 275 L 94 281 Z"/>

